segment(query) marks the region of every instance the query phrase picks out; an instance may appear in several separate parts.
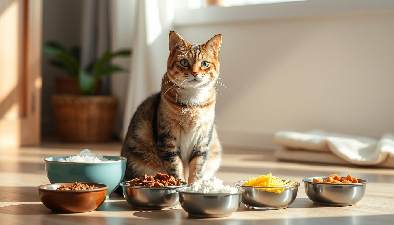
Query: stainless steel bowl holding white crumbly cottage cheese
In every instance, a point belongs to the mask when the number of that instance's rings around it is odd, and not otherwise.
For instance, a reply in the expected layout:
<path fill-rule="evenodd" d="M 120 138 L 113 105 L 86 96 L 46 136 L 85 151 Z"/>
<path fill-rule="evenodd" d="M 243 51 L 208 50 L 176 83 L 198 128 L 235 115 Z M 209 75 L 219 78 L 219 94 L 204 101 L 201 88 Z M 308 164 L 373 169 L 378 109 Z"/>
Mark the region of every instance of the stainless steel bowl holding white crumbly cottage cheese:
<path fill-rule="evenodd" d="M 182 208 L 194 217 L 224 217 L 231 216 L 241 205 L 242 193 L 245 190 L 238 188 L 238 192 L 230 193 L 193 193 L 177 189 L 179 202 Z"/>

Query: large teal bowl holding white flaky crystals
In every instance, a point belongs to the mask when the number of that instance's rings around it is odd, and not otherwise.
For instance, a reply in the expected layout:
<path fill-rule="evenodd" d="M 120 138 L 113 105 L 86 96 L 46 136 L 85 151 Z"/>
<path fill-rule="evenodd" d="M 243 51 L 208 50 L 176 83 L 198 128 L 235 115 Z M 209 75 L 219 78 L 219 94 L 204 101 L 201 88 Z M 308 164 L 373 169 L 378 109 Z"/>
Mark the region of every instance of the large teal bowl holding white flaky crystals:
<path fill-rule="evenodd" d="M 46 175 L 51 184 L 75 181 L 107 184 L 110 186 L 106 196 L 108 199 L 125 176 L 127 159 L 122 156 L 104 156 L 115 160 L 108 162 L 58 162 L 59 158 L 67 157 L 69 156 L 56 156 L 44 160 Z"/>

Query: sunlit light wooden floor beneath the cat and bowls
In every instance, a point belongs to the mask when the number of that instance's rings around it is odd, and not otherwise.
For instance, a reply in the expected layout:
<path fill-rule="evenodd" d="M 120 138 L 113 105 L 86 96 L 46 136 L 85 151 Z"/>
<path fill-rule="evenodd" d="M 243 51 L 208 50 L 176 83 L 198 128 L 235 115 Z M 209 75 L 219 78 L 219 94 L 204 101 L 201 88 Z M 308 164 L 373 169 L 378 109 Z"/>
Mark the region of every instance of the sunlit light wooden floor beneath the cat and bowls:
<path fill-rule="evenodd" d="M 225 184 L 245 180 L 271 171 L 282 179 L 301 182 L 304 177 L 332 173 L 351 174 L 367 179 L 364 198 L 354 206 L 329 207 L 315 205 L 299 187 L 296 201 L 286 209 L 256 211 L 241 205 L 226 218 L 195 219 L 180 206 L 169 210 L 138 210 L 123 197 L 112 194 L 96 211 L 58 214 L 42 205 L 37 186 L 48 184 L 43 159 L 49 156 L 76 154 L 84 148 L 104 155 L 119 155 L 120 143 L 62 144 L 44 143 L 42 147 L 0 149 L 0 224 L 393 224 L 394 170 L 343 165 L 278 162 L 272 151 L 225 148 L 217 177 Z"/>

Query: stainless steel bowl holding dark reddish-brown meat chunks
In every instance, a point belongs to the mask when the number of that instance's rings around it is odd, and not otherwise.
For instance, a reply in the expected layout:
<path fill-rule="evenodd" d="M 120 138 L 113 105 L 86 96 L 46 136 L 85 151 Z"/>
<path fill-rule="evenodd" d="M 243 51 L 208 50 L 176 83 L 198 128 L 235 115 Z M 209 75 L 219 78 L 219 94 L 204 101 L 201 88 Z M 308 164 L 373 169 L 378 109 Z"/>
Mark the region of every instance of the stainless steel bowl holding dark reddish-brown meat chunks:
<path fill-rule="evenodd" d="M 126 202 L 139 209 L 165 209 L 175 208 L 179 205 L 177 188 L 188 186 L 187 182 L 181 181 L 180 186 L 169 187 L 140 187 L 128 186 L 127 182 L 121 182 L 123 196 Z"/>

